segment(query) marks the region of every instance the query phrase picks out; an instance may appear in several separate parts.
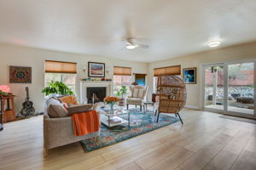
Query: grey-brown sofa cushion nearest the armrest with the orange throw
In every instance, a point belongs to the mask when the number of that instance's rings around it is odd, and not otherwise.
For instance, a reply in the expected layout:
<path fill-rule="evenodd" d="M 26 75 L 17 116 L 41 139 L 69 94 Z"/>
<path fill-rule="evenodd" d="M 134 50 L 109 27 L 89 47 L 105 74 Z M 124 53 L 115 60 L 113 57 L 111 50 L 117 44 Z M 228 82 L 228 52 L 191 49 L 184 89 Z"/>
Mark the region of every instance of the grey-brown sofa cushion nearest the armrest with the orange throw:
<path fill-rule="evenodd" d="M 67 116 L 67 110 L 63 105 L 49 105 L 48 115 L 51 118 L 65 117 Z"/>

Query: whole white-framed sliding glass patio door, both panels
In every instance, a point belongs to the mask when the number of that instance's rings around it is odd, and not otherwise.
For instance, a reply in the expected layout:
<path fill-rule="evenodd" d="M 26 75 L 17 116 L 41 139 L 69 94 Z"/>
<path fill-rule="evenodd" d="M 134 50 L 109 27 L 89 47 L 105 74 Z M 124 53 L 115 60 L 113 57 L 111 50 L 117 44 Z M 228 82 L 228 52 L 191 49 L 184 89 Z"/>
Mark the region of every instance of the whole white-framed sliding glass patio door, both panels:
<path fill-rule="evenodd" d="M 202 104 L 206 111 L 255 117 L 255 61 L 203 65 Z"/>

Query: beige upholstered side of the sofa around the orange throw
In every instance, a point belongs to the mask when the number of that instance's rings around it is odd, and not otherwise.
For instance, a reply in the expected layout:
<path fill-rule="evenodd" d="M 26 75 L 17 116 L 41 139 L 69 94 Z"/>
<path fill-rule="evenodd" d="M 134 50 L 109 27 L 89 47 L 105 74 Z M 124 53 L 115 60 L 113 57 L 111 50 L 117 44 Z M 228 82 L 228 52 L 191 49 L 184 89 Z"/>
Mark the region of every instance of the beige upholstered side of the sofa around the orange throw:
<path fill-rule="evenodd" d="M 44 157 L 48 155 L 49 149 L 65 144 L 72 144 L 84 139 L 90 139 L 98 135 L 99 132 L 84 136 L 74 136 L 71 116 L 50 118 L 48 111 L 44 110 Z"/>

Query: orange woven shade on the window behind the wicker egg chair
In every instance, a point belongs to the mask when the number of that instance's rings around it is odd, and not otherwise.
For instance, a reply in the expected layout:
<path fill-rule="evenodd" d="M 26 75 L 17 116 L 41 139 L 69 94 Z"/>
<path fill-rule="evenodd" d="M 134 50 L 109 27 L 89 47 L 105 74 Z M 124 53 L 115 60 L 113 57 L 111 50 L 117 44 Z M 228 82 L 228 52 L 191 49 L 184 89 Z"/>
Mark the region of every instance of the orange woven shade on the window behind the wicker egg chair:
<path fill-rule="evenodd" d="M 180 74 L 181 74 L 181 66 L 180 65 L 154 69 L 154 77 L 157 77 L 160 75 L 180 75 Z"/>

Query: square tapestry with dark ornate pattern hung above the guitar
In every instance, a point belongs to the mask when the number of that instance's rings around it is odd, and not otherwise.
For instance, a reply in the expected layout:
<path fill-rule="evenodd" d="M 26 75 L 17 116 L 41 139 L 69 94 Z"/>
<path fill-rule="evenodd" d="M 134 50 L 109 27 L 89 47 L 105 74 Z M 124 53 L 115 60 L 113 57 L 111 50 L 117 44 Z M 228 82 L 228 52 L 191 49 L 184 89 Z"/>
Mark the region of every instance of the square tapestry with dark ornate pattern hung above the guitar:
<path fill-rule="evenodd" d="M 9 83 L 32 83 L 32 67 L 9 66 Z"/>

